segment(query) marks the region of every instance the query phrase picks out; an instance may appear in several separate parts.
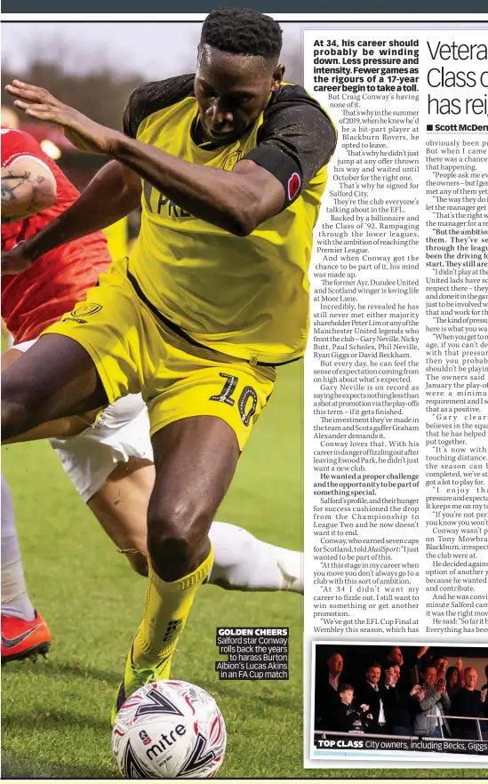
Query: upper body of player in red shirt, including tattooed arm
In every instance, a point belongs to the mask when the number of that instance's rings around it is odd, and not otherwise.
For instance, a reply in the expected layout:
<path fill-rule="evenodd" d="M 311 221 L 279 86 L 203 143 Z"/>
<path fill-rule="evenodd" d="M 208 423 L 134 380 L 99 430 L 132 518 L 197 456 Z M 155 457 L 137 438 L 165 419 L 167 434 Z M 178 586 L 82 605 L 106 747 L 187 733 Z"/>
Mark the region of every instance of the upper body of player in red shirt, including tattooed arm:
<path fill-rule="evenodd" d="M 46 183 L 51 186 L 50 196 L 53 191 L 51 204 L 44 196 Z M 22 190 L 28 196 L 20 202 Z M 35 139 L 22 131 L 2 129 L 2 252 L 34 236 L 78 196 Z M 21 220 L 16 220 L 18 215 Z M 110 261 L 105 238 L 96 232 L 45 253 L 21 275 L 4 276 L 2 315 L 14 343 L 34 340 L 72 308 L 74 297 L 83 300 Z"/>

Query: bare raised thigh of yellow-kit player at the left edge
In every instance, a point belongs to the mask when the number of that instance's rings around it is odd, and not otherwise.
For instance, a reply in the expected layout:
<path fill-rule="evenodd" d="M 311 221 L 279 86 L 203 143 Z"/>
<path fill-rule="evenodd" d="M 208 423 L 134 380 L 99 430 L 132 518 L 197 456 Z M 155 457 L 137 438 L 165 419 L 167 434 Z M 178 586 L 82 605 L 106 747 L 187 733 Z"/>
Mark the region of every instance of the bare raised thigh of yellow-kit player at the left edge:
<path fill-rule="evenodd" d="M 2 373 L 2 436 L 108 403 L 95 364 L 71 338 L 45 334 Z"/>

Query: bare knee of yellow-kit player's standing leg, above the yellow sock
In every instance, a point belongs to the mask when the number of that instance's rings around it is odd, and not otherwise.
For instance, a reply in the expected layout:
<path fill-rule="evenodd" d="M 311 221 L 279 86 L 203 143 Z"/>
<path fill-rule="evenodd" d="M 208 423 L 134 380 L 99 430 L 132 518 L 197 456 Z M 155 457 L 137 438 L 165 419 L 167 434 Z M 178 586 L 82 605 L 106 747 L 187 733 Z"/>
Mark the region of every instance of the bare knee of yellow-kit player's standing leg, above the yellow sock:
<path fill-rule="evenodd" d="M 207 528 L 201 511 L 186 504 L 149 508 L 148 553 L 164 580 L 178 580 L 196 569 Z"/>

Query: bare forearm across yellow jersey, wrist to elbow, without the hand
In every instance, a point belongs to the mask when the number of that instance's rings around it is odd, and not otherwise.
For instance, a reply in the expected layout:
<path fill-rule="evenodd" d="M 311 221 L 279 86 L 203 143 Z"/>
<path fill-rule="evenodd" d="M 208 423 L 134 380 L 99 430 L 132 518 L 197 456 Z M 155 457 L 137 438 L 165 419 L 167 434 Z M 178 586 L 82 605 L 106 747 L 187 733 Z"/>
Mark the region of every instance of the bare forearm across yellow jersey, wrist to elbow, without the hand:
<path fill-rule="evenodd" d="M 237 236 L 250 234 L 284 204 L 281 183 L 252 161 L 224 172 L 190 164 L 122 133 L 114 135 L 109 154 L 186 212 Z"/>

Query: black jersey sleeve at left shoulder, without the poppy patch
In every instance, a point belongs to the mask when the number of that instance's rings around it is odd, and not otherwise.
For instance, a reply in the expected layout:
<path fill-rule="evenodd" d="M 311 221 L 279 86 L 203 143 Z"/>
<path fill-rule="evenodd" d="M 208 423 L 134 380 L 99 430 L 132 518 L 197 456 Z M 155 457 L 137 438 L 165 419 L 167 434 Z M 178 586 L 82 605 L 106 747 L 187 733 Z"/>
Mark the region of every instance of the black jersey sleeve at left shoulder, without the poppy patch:
<path fill-rule="evenodd" d="M 195 74 L 172 76 L 159 82 L 147 82 L 131 92 L 124 108 L 124 133 L 137 138 L 140 124 L 149 115 L 172 106 L 179 100 L 193 95 Z"/>

